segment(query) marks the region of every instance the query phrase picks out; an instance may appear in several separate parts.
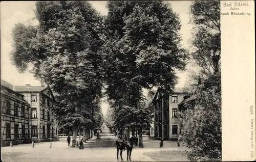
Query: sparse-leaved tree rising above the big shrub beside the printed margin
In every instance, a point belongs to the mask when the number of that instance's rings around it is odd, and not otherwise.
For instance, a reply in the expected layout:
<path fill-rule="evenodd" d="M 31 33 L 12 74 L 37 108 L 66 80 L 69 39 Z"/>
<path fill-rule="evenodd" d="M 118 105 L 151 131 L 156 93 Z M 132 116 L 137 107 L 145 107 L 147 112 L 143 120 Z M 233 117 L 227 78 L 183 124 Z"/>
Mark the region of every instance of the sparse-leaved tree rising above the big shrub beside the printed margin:
<path fill-rule="evenodd" d="M 191 57 L 202 72 L 217 73 L 221 69 L 220 2 L 193 2 L 190 14 L 195 24 Z"/>

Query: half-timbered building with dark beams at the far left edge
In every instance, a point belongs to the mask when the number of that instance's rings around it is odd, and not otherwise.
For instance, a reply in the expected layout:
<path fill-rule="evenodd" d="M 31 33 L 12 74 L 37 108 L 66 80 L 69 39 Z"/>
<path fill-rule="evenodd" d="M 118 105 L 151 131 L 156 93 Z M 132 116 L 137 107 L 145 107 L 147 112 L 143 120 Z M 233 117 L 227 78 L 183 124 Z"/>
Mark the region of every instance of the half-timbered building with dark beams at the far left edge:
<path fill-rule="evenodd" d="M 1 146 L 30 141 L 30 104 L 13 85 L 1 79 Z"/>

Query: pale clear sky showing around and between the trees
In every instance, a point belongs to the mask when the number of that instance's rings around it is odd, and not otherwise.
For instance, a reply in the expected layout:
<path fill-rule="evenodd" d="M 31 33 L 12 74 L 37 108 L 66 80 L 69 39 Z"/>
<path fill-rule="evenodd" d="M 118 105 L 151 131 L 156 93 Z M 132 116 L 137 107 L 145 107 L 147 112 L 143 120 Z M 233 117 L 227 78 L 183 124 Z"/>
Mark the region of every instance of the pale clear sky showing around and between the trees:
<path fill-rule="evenodd" d="M 102 15 L 108 14 L 106 9 L 107 1 L 90 1 L 92 6 Z M 193 26 L 189 24 L 189 6 L 190 1 L 168 1 L 172 5 L 174 12 L 180 15 L 182 36 L 181 44 L 185 48 L 189 48 L 189 39 L 191 38 L 191 30 Z M 34 1 L 12 1 L 1 2 L 1 79 L 9 82 L 15 86 L 24 86 L 30 84 L 31 86 L 40 86 L 40 82 L 36 80 L 28 71 L 19 73 L 15 66 L 11 64 L 9 53 L 12 49 L 11 31 L 15 23 L 31 23 L 36 24 L 34 18 L 35 2 Z M 190 69 L 190 67 L 187 67 Z M 178 72 L 179 81 L 176 87 L 183 87 L 186 81 L 187 72 Z M 102 100 L 101 108 L 103 114 L 108 110 L 109 104 Z"/>

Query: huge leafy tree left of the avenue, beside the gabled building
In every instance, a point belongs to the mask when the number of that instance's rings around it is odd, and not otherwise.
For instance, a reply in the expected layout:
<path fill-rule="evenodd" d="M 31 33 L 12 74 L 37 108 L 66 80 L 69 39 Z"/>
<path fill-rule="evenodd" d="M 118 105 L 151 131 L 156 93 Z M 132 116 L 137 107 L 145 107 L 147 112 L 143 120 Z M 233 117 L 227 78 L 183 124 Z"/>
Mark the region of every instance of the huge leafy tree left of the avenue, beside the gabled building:
<path fill-rule="evenodd" d="M 33 65 L 33 74 L 58 94 L 55 114 L 62 126 L 93 126 L 94 105 L 101 95 L 102 17 L 89 2 L 36 2 L 37 26 L 13 29 L 14 65 Z M 25 32 L 24 32 L 25 31 Z"/>

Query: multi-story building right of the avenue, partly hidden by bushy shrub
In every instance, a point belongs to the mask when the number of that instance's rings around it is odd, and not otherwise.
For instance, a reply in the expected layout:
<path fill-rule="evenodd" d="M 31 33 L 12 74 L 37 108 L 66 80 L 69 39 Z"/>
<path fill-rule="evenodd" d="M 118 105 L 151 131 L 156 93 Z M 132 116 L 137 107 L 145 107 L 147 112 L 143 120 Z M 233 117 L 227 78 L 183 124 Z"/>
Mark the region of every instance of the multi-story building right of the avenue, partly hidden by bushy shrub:
<path fill-rule="evenodd" d="M 187 93 L 181 88 L 167 93 L 160 88 L 154 95 L 154 139 L 177 140 L 180 134 L 180 122 L 178 120 L 178 105 L 188 98 Z M 163 120 L 163 121 L 162 121 Z M 163 126 L 162 126 L 163 124 Z M 162 131 L 163 128 L 163 131 Z"/>

